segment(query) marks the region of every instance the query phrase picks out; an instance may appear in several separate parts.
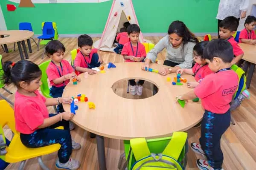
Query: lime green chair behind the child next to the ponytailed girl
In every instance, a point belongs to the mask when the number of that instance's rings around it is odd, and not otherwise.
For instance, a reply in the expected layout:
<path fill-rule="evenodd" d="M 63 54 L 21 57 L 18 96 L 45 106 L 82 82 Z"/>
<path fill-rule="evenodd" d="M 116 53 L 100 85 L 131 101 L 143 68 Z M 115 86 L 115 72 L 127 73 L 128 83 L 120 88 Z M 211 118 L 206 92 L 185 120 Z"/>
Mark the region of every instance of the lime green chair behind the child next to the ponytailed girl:
<path fill-rule="evenodd" d="M 46 74 L 46 69 L 49 65 L 49 63 L 51 62 L 51 60 L 48 60 L 46 62 L 43 62 L 42 64 L 39 65 L 39 68 L 41 69 L 42 71 L 42 77 L 41 77 L 41 93 L 46 97 L 46 98 L 52 98 L 52 96 L 50 96 L 50 90 L 49 90 L 49 86 L 48 86 L 48 77 L 47 77 L 47 74 Z M 57 113 L 57 108 L 56 106 L 53 106 L 54 107 L 54 110 L 55 112 Z"/>

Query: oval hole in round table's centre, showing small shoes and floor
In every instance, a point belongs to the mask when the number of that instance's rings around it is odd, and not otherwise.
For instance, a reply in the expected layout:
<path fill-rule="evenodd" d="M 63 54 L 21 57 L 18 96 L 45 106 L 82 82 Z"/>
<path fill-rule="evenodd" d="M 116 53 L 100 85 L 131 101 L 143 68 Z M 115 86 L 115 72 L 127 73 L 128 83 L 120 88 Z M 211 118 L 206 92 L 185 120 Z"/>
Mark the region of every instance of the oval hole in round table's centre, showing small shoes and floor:
<path fill-rule="evenodd" d="M 143 93 L 141 96 L 137 95 L 136 93 L 138 86 L 135 86 L 136 87 L 135 95 L 132 95 L 131 88 L 134 83 L 135 85 L 143 84 L 142 85 Z M 154 96 L 158 92 L 157 85 L 154 82 L 149 82 L 148 80 L 138 79 L 138 78 L 121 79 L 115 82 L 111 88 L 116 95 L 126 99 L 146 99 L 148 97 Z"/>

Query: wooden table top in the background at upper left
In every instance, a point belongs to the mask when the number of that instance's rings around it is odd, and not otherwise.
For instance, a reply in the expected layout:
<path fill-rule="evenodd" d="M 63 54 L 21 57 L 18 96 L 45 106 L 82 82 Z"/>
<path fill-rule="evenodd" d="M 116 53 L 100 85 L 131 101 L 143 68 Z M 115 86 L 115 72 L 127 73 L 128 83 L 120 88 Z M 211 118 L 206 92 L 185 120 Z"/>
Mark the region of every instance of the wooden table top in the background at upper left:
<path fill-rule="evenodd" d="M 27 30 L 9 30 L 0 31 L 0 35 L 8 36 L 0 38 L 0 45 L 2 45 L 29 39 L 34 35 L 34 32 Z"/>

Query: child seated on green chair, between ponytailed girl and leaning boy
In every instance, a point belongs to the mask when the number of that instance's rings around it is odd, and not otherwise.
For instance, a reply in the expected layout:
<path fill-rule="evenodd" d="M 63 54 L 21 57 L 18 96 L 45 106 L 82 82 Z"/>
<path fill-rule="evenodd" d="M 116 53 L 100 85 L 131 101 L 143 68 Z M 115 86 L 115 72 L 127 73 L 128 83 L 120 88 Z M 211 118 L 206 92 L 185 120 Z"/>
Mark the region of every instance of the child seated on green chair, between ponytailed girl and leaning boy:
<path fill-rule="evenodd" d="M 81 79 L 76 76 L 74 69 L 70 63 L 63 59 L 66 48 L 58 40 L 49 41 L 45 47 L 45 51 L 48 57 L 52 59 L 46 70 L 48 79 L 50 81 L 50 96 L 53 98 L 61 97 L 66 85 L 70 82 L 70 79 Z M 58 113 L 64 112 L 61 104 L 57 107 Z M 70 122 L 70 130 L 73 130 L 75 125 Z"/>

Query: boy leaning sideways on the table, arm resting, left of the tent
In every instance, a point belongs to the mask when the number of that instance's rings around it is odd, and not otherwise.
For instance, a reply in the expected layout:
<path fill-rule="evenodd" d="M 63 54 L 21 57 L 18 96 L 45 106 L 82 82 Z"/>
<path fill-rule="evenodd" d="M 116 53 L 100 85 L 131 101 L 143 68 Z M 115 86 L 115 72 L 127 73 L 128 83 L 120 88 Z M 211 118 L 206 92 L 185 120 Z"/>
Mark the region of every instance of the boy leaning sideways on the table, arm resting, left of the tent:
<path fill-rule="evenodd" d="M 79 74 L 88 72 L 88 74 L 96 74 L 97 71 L 92 68 L 99 67 L 103 63 L 102 58 L 97 54 L 97 48 L 92 49 L 93 39 L 84 34 L 78 37 L 79 53 L 76 54 L 75 69 Z"/>

